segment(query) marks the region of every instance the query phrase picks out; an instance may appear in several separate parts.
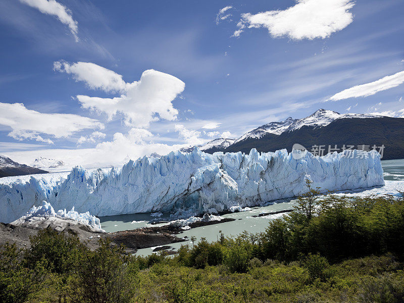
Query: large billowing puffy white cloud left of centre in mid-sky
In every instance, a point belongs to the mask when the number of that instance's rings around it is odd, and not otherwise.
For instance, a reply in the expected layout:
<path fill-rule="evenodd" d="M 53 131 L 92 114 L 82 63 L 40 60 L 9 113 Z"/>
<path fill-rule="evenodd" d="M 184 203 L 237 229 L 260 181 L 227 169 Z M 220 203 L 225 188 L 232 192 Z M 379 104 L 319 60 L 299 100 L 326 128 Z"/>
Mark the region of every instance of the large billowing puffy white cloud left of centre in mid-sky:
<path fill-rule="evenodd" d="M 152 121 L 177 118 L 178 110 L 172 101 L 184 90 L 185 83 L 174 76 L 147 70 L 139 81 L 125 83 L 122 76 L 91 63 L 56 62 L 55 69 L 73 74 L 75 79 L 84 81 L 90 88 L 122 91 L 122 95 L 115 98 L 77 96 L 82 107 L 104 112 L 109 120 L 120 112 L 125 117 L 125 125 L 148 127 Z"/>

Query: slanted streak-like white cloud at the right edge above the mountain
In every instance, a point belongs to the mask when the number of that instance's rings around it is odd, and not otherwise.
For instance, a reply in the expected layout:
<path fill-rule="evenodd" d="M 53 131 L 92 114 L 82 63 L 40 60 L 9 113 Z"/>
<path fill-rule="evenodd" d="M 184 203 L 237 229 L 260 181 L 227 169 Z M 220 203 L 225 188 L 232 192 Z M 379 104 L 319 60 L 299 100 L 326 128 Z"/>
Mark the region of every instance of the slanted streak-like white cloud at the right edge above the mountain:
<path fill-rule="evenodd" d="M 337 101 L 347 98 L 367 97 L 374 95 L 377 92 L 396 87 L 402 83 L 404 83 L 404 71 L 391 76 L 386 76 L 374 82 L 345 89 L 333 95 L 329 100 Z"/>

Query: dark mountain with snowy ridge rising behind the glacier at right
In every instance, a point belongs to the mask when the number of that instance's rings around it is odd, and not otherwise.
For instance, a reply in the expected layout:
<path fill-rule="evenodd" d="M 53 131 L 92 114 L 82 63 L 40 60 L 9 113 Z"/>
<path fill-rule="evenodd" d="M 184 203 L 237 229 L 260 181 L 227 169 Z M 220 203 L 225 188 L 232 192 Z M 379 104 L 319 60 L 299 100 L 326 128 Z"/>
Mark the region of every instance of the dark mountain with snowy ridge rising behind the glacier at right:
<path fill-rule="evenodd" d="M 372 114 L 345 113 L 319 109 L 313 114 L 300 118 L 287 118 L 281 122 L 271 122 L 260 126 L 223 148 L 208 142 L 204 151 L 249 153 L 251 148 L 262 152 L 286 148 L 291 151 L 294 143 L 306 146 L 314 145 L 376 145 L 385 146 L 383 159 L 401 159 L 404 157 L 404 119 Z M 229 139 L 227 139 L 229 140 Z M 231 141 L 231 140 L 229 140 Z M 183 150 L 192 151 L 193 147 Z"/>

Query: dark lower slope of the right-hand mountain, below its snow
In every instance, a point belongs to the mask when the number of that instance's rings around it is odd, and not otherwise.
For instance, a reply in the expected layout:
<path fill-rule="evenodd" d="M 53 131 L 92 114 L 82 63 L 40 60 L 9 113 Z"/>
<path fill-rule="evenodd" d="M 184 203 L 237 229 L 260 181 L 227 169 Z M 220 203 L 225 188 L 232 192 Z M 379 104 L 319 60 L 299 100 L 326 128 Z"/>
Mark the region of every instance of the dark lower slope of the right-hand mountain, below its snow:
<path fill-rule="evenodd" d="M 313 145 L 384 145 L 383 159 L 404 158 L 404 118 L 374 117 L 374 118 L 339 118 L 321 128 L 303 126 L 300 129 L 284 132 L 280 135 L 266 134 L 260 139 L 247 138 L 236 142 L 224 152 L 249 153 L 251 148 L 260 152 L 276 151 L 286 148 L 289 152 L 293 144 L 299 143 L 309 151 Z M 217 150 L 206 150 L 214 152 Z M 341 150 L 339 150 L 341 151 Z"/>

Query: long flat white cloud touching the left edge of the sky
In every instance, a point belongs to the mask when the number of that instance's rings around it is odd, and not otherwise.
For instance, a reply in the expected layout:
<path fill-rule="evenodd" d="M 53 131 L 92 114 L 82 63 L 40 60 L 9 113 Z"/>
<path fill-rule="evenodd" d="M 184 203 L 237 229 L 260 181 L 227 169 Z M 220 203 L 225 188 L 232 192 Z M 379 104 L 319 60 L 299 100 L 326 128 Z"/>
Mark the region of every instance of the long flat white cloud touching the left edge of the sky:
<path fill-rule="evenodd" d="M 85 129 L 104 129 L 98 120 L 67 113 L 41 113 L 27 109 L 22 103 L 0 103 L 0 125 L 8 126 L 8 136 L 17 140 L 31 139 L 52 144 L 39 134 L 55 138 L 69 137 Z"/>

